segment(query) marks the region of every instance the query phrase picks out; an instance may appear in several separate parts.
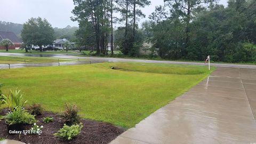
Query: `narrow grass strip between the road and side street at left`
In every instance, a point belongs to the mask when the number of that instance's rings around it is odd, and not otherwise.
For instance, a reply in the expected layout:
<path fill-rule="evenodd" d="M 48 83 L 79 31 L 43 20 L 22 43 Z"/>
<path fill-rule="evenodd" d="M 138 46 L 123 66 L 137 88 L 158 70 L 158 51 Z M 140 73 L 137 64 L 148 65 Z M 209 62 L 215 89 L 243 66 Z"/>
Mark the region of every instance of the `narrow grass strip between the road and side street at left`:
<path fill-rule="evenodd" d="M 44 58 L 44 57 L 7 57 L 0 56 L 0 63 L 49 63 L 58 62 L 58 59 Z M 60 62 L 71 61 L 69 59 L 59 59 Z"/>

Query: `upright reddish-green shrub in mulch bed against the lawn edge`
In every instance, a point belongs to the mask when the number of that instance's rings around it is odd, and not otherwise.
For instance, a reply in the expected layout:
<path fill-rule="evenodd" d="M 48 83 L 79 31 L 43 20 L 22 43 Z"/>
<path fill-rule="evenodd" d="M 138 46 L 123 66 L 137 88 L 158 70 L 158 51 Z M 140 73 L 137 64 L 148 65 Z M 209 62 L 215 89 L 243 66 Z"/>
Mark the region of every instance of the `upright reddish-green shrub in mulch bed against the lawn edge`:
<path fill-rule="evenodd" d="M 62 111 L 60 116 L 64 124 L 73 125 L 79 123 L 80 116 L 78 115 L 78 109 L 75 104 L 65 103 L 65 111 Z"/>

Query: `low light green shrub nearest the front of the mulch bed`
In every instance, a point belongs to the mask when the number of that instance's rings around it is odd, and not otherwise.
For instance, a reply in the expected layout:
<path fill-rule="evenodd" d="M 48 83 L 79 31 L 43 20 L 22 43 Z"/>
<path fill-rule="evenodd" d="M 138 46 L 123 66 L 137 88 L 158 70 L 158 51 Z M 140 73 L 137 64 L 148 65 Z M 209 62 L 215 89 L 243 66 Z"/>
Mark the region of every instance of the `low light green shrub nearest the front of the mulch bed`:
<path fill-rule="evenodd" d="M 64 126 L 57 133 L 54 133 L 53 135 L 55 137 L 58 137 L 64 140 L 71 140 L 72 138 L 76 137 L 78 134 L 81 133 L 82 128 L 83 128 L 82 123 L 77 125 L 71 125 L 71 126 L 64 124 Z"/>

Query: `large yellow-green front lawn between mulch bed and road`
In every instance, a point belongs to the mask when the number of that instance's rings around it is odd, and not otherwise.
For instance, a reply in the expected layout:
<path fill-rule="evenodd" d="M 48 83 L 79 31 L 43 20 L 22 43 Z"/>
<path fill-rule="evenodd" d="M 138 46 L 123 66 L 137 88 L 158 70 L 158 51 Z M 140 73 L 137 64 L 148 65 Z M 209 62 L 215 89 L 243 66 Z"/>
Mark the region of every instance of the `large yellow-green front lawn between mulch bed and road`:
<path fill-rule="evenodd" d="M 59 112 L 65 102 L 76 103 L 84 118 L 129 128 L 209 74 L 204 66 L 98 63 L 1 69 L 0 83 L 4 93 L 21 89 L 45 110 Z"/>

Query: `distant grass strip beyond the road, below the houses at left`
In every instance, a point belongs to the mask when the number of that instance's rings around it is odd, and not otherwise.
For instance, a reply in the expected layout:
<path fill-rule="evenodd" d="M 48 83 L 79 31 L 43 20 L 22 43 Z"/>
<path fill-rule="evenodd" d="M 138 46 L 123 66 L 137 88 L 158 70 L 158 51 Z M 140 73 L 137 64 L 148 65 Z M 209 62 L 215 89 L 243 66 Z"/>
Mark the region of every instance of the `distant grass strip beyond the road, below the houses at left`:
<path fill-rule="evenodd" d="M 4 53 L 26 53 L 25 50 L 9 50 L 6 52 L 6 50 L 0 50 L 0 52 L 4 52 Z M 76 54 L 76 52 L 74 51 L 44 51 L 44 52 L 40 52 L 40 51 L 28 51 L 27 54 Z"/>

